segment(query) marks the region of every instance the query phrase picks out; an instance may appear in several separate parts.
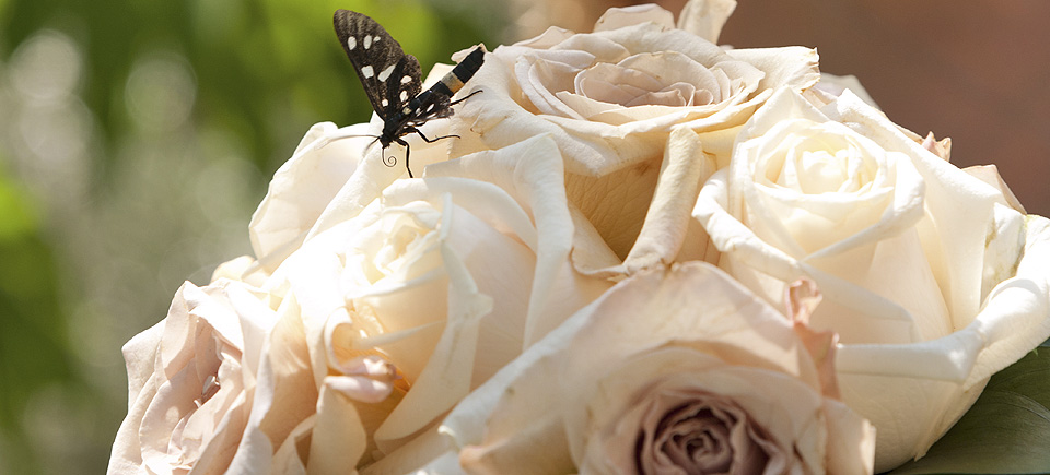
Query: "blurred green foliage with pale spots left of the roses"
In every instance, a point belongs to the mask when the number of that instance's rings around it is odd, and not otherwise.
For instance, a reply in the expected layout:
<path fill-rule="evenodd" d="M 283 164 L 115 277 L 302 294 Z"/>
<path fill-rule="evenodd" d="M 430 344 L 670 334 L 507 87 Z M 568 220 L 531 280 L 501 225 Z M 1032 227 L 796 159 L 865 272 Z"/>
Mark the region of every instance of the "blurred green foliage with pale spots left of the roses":
<path fill-rule="evenodd" d="M 120 345 L 183 280 L 250 252 L 252 210 L 311 124 L 369 119 L 335 10 L 376 19 L 425 71 L 494 47 L 503 7 L 0 0 L 0 473 L 103 473 Z M 78 63 L 49 66 L 71 91 L 34 96 L 40 37 L 73 46 Z"/>

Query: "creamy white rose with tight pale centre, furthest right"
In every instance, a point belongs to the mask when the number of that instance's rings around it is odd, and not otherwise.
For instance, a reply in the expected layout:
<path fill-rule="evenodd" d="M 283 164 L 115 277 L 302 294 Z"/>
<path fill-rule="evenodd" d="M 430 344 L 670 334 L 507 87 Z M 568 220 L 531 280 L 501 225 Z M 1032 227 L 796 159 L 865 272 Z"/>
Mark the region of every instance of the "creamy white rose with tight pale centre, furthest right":
<path fill-rule="evenodd" d="M 1046 219 L 849 92 L 818 110 L 779 91 L 695 216 L 767 300 L 800 276 L 820 287 L 813 324 L 842 337 L 843 399 L 878 429 L 876 471 L 922 455 L 1050 335 Z"/>

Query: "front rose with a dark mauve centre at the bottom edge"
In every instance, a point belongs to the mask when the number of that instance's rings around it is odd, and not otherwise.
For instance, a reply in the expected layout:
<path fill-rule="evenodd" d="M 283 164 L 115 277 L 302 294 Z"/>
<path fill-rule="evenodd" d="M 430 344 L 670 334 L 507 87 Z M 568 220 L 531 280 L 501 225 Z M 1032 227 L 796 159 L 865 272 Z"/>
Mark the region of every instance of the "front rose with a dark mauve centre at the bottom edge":
<path fill-rule="evenodd" d="M 812 336 L 705 263 L 643 271 L 441 432 L 468 473 L 871 473 L 871 426 L 832 396 L 833 340 Z"/>

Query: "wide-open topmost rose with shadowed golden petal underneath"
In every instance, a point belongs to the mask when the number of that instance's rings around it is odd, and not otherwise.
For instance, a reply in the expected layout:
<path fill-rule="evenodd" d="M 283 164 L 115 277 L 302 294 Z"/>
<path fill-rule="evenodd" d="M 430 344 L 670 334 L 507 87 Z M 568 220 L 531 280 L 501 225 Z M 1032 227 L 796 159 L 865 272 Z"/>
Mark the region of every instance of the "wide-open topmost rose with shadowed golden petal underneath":
<path fill-rule="evenodd" d="M 719 9 L 690 9 L 681 22 L 716 35 L 728 13 L 711 10 Z M 551 28 L 488 55 L 471 79 L 482 93 L 457 106 L 453 118 L 462 139 L 452 155 L 550 134 L 565 159 L 569 202 L 622 261 L 649 212 L 665 151 L 692 146 L 673 143 L 675 129 L 702 133 L 693 156 L 710 154 L 719 163 L 727 158 L 732 130 L 774 88 L 802 91 L 818 79 L 815 50 L 726 51 L 676 28 L 660 7 L 610 9 L 594 33 Z M 688 213 L 681 216 L 688 222 Z"/>

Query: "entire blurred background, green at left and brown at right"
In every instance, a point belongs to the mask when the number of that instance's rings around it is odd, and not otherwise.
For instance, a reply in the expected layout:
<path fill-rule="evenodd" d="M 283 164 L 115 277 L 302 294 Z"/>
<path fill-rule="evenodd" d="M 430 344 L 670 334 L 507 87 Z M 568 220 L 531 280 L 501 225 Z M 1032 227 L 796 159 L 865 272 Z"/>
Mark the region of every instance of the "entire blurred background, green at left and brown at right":
<path fill-rule="evenodd" d="M 570 0 L 0 0 L 0 474 L 103 473 L 120 346 L 250 252 L 273 171 L 371 108 L 335 38 L 375 17 L 424 69 L 610 5 Z M 664 2 L 678 12 L 684 1 Z M 1050 2 L 739 0 L 735 47 L 817 47 L 896 122 L 1050 213 Z"/>

